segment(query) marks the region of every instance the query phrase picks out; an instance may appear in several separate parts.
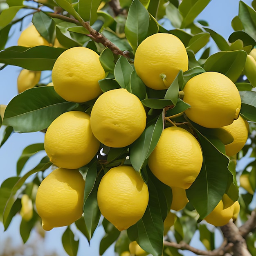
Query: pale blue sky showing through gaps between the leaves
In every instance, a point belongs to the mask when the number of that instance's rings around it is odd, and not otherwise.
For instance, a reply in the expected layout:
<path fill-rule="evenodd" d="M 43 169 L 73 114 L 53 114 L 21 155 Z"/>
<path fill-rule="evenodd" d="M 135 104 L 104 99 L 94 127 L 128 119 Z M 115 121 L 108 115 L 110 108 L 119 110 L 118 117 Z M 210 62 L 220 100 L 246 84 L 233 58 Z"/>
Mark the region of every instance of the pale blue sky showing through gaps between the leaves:
<path fill-rule="evenodd" d="M 251 0 L 244 0 L 246 4 L 251 6 Z M 204 9 L 204 11 L 198 16 L 198 20 L 206 20 L 209 22 L 209 27 L 216 31 L 218 34 L 222 35 L 226 40 L 229 35 L 233 32 L 231 27 L 231 20 L 234 16 L 238 15 L 238 0 L 212 0 L 209 5 Z M 24 25 L 27 25 L 31 20 L 28 17 L 25 20 Z M 12 36 L 7 47 L 16 45 L 20 31 L 16 29 L 11 31 Z M 214 45 L 214 43 L 213 43 Z M 0 71 L 0 104 L 7 104 L 14 96 L 17 95 L 16 81 L 18 74 L 20 72 L 20 67 L 7 66 L 4 70 Z M 42 77 L 46 74 L 42 74 Z M 47 80 L 45 80 L 47 83 Z M 1 137 L 1 132 L 0 132 Z M 44 134 L 42 132 L 33 133 L 14 133 L 7 140 L 7 142 L 0 148 L 0 184 L 3 180 L 8 177 L 16 175 L 16 162 L 22 153 L 23 148 L 30 144 L 40 143 L 44 141 Z M 33 168 L 38 161 L 43 157 L 44 153 L 39 154 L 29 161 L 24 169 L 24 172 L 29 171 Z M 14 237 L 15 245 L 22 244 L 22 240 L 19 235 L 19 221 L 20 217 L 14 218 L 9 229 L 3 233 L 3 226 L 0 223 L 0 254 L 1 248 L 3 246 L 3 241 L 6 237 Z M 47 232 L 45 243 L 42 248 L 45 251 L 56 251 L 60 255 L 65 255 L 61 245 L 61 235 L 65 228 L 55 228 L 52 231 Z M 81 237 L 80 247 L 78 256 L 99 255 L 99 241 L 103 236 L 102 229 L 98 229 L 93 236 L 91 246 L 88 246 L 88 242 L 85 238 Z M 202 248 L 203 249 L 203 248 Z M 29 255 L 29 254 L 28 254 Z M 38 254 L 39 255 L 39 254 Z M 104 256 L 113 256 L 113 247 L 110 248 Z M 187 254 L 194 255 L 194 254 Z"/>

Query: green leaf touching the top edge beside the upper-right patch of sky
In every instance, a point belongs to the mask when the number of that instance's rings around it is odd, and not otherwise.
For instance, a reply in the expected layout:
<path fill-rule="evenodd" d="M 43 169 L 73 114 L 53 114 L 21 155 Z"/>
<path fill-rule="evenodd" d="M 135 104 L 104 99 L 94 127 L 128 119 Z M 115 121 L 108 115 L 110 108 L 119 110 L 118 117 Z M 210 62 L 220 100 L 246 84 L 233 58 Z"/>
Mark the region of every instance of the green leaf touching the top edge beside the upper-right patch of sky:
<path fill-rule="evenodd" d="M 207 7 L 211 0 L 183 0 L 179 6 L 179 11 L 183 16 L 181 28 L 190 25 L 198 14 Z"/>

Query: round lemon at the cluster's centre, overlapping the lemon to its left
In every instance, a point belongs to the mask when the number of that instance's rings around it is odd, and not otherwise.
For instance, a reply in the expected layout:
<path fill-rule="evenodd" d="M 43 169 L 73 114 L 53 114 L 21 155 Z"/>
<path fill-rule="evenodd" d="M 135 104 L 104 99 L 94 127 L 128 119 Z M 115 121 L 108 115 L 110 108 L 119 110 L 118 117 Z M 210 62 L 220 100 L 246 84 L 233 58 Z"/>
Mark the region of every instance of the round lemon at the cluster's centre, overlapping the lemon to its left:
<path fill-rule="evenodd" d="M 91 127 L 104 145 L 122 148 L 132 144 L 146 127 L 146 112 L 137 96 L 126 89 L 107 91 L 92 107 Z"/>

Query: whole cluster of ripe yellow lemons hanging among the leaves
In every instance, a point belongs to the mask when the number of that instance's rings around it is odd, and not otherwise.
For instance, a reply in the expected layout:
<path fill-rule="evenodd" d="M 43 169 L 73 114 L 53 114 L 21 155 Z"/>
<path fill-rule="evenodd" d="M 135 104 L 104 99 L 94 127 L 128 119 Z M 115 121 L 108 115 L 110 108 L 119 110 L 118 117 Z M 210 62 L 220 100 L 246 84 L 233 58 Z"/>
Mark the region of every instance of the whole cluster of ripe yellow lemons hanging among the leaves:
<path fill-rule="evenodd" d="M 39 43 L 42 44 L 45 43 Z M 180 70 L 188 70 L 189 59 L 179 38 L 158 33 L 139 45 L 134 67 L 147 87 L 164 90 Z M 54 64 L 52 83 L 63 99 L 76 103 L 97 100 L 90 115 L 83 111 L 65 112 L 47 128 L 45 151 L 58 168 L 42 181 L 36 195 L 36 209 L 45 230 L 70 225 L 82 216 L 85 181 L 79 168 L 92 161 L 100 145 L 129 146 L 146 127 L 147 115 L 139 98 L 124 88 L 103 93 L 98 81 L 104 78 L 99 55 L 86 47 L 65 50 Z M 238 153 L 247 140 L 249 125 L 239 115 L 241 99 L 236 85 L 224 74 L 204 72 L 191 78 L 183 92 L 183 101 L 191 106 L 185 111 L 186 116 L 200 126 L 221 130 L 219 134 L 232 135 L 234 141 L 229 144 L 221 135 L 220 139 L 227 144 L 226 155 Z M 201 146 L 189 130 L 171 126 L 162 131 L 148 166 L 172 188 L 172 210 L 180 211 L 187 204 L 186 189 L 198 176 L 202 162 Z M 144 215 L 148 198 L 146 183 L 128 165 L 111 168 L 97 192 L 102 215 L 120 231 Z M 239 209 L 239 203 L 225 194 L 205 220 L 222 226 L 231 218 L 235 220 Z M 165 234 L 174 221 L 175 215 L 170 211 Z"/>

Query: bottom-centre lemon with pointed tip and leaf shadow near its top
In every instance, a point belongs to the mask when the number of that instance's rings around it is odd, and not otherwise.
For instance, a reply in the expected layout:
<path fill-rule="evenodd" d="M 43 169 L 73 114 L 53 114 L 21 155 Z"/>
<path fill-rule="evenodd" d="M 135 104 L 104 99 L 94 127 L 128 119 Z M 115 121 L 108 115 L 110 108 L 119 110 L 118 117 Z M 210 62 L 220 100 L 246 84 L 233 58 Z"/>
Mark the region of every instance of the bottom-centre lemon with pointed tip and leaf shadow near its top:
<path fill-rule="evenodd" d="M 132 166 L 117 166 L 103 176 L 97 200 L 102 215 L 122 231 L 144 215 L 148 206 L 148 187 Z"/>

